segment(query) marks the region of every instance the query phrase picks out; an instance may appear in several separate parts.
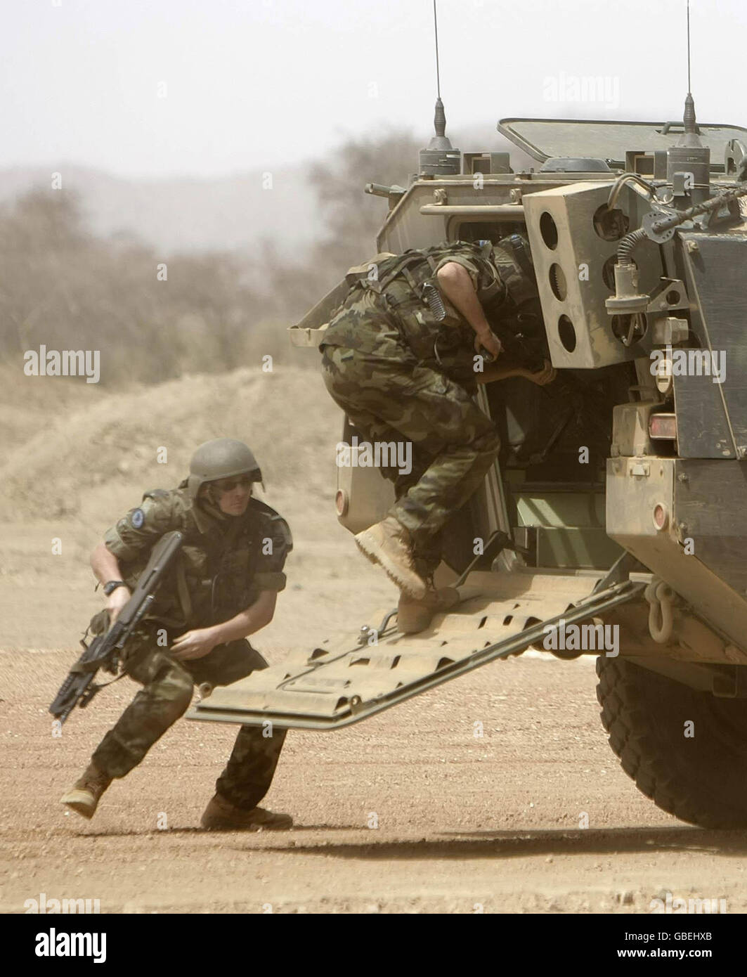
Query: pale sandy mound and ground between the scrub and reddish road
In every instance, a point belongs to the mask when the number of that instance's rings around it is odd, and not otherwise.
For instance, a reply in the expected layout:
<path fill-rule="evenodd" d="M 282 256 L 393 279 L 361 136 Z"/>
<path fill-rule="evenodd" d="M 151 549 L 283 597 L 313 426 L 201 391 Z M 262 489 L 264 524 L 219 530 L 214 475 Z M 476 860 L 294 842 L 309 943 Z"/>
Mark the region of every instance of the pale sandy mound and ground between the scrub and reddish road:
<path fill-rule="evenodd" d="M 2 647 L 77 649 L 103 600 L 91 550 L 146 489 L 177 486 L 194 448 L 217 437 L 254 448 L 267 487 L 258 493 L 293 533 L 283 613 L 262 634 L 270 658 L 336 628 L 357 633 L 394 606 L 394 586 L 337 520 L 342 414 L 313 369 L 275 362 L 271 373 L 242 368 L 113 392 L 0 371 L 0 417 Z"/>

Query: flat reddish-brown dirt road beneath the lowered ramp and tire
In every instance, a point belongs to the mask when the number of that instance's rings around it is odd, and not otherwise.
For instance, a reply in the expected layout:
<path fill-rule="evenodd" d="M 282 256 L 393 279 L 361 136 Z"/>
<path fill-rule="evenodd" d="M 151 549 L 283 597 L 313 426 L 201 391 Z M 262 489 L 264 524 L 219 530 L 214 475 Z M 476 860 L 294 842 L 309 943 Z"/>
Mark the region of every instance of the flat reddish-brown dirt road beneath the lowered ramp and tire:
<path fill-rule="evenodd" d="M 66 814 L 62 790 L 134 691 L 107 690 L 53 739 L 69 658 L 0 655 L 2 912 L 42 892 L 103 913 L 647 913 L 667 891 L 747 908 L 747 839 L 638 793 L 591 659 L 499 662 L 349 730 L 290 734 L 267 803 L 297 828 L 248 834 L 195 827 L 233 727 L 187 720 L 93 822 Z"/>

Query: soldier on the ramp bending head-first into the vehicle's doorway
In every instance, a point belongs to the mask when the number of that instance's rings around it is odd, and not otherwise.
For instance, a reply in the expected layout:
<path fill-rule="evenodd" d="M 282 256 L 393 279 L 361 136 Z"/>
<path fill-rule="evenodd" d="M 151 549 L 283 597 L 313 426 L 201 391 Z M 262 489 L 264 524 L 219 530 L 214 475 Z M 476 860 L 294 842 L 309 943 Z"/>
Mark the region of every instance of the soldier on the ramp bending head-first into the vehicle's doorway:
<path fill-rule="evenodd" d="M 495 246 L 456 241 L 376 255 L 349 271 L 351 290 L 324 332 L 324 383 L 355 428 L 371 442 L 412 443 L 410 473 L 383 469 L 394 506 L 355 536 L 400 589 L 402 631 L 423 630 L 459 600 L 434 584 L 441 531 L 500 448 L 475 403 L 477 383 L 556 378 L 548 360 L 529 369 L 494 331 L 536 297 L 528 255 L 517 234 Z"/>

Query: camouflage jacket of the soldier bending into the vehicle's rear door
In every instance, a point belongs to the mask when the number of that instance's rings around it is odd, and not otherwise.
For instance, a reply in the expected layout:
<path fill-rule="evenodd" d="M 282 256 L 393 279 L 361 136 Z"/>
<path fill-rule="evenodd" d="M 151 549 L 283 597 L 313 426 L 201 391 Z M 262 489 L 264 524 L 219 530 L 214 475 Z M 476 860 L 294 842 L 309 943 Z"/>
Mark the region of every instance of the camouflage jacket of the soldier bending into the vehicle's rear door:
<path fill-rule="evenodd" d="M 320 348 L 343 346 L 395 359 L 409 352 L 416 361 L 454 379 L 474 379 L 475 332 L 441 291 L 436 273 L 455 262 L 469 272 L 480 301 L 505 298 L 506 285 L 488 255 L 489 248 L 451 241 L 400 256 L 377 255 L 352 268 L 346 276 L 351 291 L 330 321 Z M 444 316 L 427 303 L 424 286 L 437 290 Z"/>

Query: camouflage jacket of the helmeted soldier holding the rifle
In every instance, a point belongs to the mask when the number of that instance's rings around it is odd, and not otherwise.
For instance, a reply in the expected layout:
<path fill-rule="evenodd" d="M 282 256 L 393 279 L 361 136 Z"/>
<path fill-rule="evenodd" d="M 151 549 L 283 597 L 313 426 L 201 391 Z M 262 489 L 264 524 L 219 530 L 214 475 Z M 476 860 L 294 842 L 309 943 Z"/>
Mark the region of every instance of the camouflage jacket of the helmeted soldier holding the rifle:
<path fill-rule="evenodd" d="M 243 516 L 216 519 L 192 502 L 183 483 L 146 491 L 141 505 L 104 534 L 131 590 L 153 545 L 172 530 L 185 540 L 157 592 L 154 619 L 205 627 L 250 607 L 261 591 L 285 587 L 283 566 L 293 548 L 285 520 L 256 498 Z"/>

